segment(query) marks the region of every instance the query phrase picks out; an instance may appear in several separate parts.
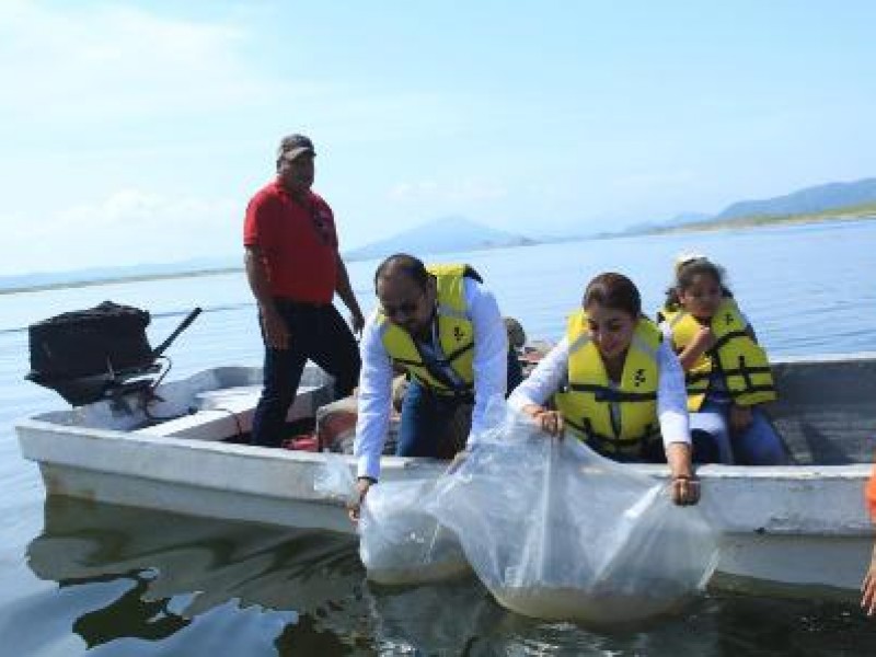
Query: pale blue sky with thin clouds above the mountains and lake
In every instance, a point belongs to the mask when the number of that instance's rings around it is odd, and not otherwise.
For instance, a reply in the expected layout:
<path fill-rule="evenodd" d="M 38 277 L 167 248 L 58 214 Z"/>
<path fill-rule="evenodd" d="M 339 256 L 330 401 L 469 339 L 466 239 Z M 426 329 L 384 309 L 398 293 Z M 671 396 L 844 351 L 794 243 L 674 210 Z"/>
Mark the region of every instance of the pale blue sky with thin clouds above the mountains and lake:
<path fill-rule="evenodd" d="M 876 176 L 876 3 L 0 2 L 0 276 L 242 253 L 289 132 L 342 250 Z"/>

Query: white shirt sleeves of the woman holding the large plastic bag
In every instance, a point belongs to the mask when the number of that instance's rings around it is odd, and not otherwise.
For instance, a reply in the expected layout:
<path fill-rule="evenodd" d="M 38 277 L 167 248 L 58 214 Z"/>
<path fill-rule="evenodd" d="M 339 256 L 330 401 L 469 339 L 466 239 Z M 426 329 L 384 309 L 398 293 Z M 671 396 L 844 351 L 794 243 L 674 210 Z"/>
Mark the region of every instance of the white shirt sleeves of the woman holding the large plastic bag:
<path fill-rule="evenodd" d="M 664 445 L 672 442 L 690 445 L 684 372 L 672 351 L 670 341 L 662 341 L 657 348 L 657 417 Z M 515 389 L 508 397 L 508 404 L 517 411 L 529 404 L 543 406 L 567 380 L 568 339 L 564 337 L 542 358 L 529 378 Z"/>

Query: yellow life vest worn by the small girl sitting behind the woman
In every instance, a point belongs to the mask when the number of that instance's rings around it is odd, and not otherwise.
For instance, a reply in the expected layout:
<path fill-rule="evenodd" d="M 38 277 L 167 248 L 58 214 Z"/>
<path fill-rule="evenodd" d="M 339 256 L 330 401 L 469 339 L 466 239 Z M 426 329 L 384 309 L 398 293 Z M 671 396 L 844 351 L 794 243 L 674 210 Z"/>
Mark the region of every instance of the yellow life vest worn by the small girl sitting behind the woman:
<path fill-rule="evenodd" d="M 700 331 L 700 322 L 683 309 L 665 308 L 660 315 L 672 328 L 672 346 L 680 354 Z M 715 346 L 700 356 L 684 374 L 688 410 L 696 412 L 703 405 L 716 368 L 734 402 L 740 406 L 773 401 L 776 395 L 770 361 L 763 348 L 746 332 L 748 323 L 736 301 L 725 298 L 712 316 L 710 327 L 715 334 Z"/>

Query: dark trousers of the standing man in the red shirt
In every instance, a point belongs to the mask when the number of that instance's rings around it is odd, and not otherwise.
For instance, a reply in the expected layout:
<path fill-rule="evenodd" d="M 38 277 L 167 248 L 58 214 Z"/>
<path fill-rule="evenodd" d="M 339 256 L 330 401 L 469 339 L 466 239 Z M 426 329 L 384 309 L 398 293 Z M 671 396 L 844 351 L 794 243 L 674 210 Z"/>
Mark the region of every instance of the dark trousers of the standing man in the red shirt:
<path fill-rule="evenodd" d="M 335 378 L 335 399 L 353 392 L 361 369 L 356 339 L 334 306 L 283 300 L 277 310 L 289 330 L 289 347 L 272 349 L 265 342 L 264 388 L 252 433 L 252 443 L 264 447 L 277 447 L 286 438 L 286 415 L 308 359 Z"/>

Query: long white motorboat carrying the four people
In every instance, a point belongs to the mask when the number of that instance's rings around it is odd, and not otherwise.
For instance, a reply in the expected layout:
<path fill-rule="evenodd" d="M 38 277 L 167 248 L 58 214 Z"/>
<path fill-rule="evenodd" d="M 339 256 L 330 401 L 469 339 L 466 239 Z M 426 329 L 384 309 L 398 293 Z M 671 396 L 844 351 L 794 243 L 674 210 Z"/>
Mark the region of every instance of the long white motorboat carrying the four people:
<path fill-rule="evenodd" d="M 775 374 L 781 401 L 770 414 L 795 464 L 699 469 L 701 508 L 722 533 L 717 580 L 855 589 L 873 541 L 863 488 L 876 437 L 876 354 L 789 359 L 775 364 Z M 134 391 L 15 429 L 48 495 L 353 532 L 343 504 L 314 487 L 324 454 L 226 441 L 249 431 L 260 388 L 257 368 L 217 368 L 159 387 L 148 413 Z M 309 368 L 289 419 L 312 416 L 330 390 L 327 377 Z M 382 477 L 438 476 L 445 466 L 384 457 Z"/>

